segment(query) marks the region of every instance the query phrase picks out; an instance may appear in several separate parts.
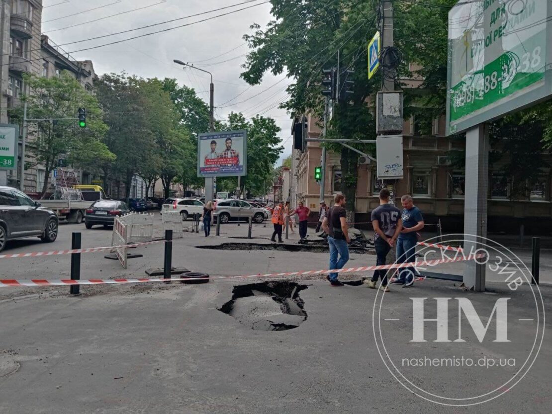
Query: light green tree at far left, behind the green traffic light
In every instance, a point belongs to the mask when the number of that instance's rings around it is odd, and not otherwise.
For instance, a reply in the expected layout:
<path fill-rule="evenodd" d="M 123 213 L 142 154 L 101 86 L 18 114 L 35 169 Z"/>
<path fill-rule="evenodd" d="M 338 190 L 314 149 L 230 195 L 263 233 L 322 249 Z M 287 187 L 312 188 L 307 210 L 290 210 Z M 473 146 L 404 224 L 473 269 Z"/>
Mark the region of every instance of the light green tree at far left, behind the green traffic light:
<path fill-rule="evenodd" d="M 22 100 L 27 103 L 28 119 L 58 119 L 38 121 L 29 128 L 28 151 L 36 164 L 45 167 L 45 180 L 40 190 L 44 197 L 51 172 L 57 167 L 60 155 L 67 155 L 75 167 L 90 167 L 95 163 L 111 163 L 115 155 L 100 139 L 108 131 L 103 123 L 98 100 L 89 94 L 68 71 L 59 77 L 45 78 L 24 75 L 30 93 Z M 79 128 L 78 108 L 86 108 L 87 128 Z M 10 115 L 22 119 L 19 108 Z M 65 120 L 67 118 L 67 120 Z"/>

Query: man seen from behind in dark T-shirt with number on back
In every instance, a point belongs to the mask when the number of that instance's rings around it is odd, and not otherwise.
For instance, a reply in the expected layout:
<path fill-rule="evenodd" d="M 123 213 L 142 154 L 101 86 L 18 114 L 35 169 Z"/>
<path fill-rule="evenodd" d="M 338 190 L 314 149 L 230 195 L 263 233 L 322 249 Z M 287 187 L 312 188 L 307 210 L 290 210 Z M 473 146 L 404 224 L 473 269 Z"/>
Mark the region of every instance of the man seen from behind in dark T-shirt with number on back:
<path fill-rule="evenodd" d="M 402 230 L 401 210 L 394 205 L 389 204 L 390 193 L 384 188 L 380 191 L 380 205 L 376 207 L 371 215 L 370 220 L 374 227 L 374 248 L 376 250 L 376 266 L 383 266 L 385 258 L 395 247 L 395 241 L 399 237 Z M 381 278 L 380 289 L 384 292 L 389 292 L 387 286 L 387 270 L 375 270 L 371 280 L 363 280 L 363 282 L 372 289 L 378 287 L 378 280 Z"/>

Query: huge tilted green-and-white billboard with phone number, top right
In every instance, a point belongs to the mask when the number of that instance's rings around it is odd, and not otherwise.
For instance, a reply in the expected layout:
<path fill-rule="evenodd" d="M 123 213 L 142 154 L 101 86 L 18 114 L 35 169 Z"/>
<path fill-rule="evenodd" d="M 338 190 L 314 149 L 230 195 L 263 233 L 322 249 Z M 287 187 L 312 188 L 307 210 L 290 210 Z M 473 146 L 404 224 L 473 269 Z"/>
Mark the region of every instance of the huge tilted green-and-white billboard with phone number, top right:
<path fill-rule="evenodd" d="M 552 94 L 552 5 L 461 0 L 449 12 L 447 135 Z"/>

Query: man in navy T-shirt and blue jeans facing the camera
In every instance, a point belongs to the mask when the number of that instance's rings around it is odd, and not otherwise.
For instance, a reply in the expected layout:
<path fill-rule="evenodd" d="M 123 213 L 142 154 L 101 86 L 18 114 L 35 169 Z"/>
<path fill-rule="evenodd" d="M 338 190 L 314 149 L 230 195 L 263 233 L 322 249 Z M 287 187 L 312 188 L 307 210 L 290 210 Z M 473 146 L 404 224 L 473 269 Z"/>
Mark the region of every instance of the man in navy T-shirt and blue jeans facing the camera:
<path fill-rule="evenodd" d="M 423 229 L 423 216 L 409 194 L 401 197 L 402 203 L 402 230 L 397 238 L 397 263 L 410 263 L 416 258 L 416 245 L 418 238 L 416 232 Z M 401 284 L 403 288 L 410 288 L 414 284 L 414 268 L 407 267 L 400 269 L 399 277 L 394 280 L 394 284 Z"/>

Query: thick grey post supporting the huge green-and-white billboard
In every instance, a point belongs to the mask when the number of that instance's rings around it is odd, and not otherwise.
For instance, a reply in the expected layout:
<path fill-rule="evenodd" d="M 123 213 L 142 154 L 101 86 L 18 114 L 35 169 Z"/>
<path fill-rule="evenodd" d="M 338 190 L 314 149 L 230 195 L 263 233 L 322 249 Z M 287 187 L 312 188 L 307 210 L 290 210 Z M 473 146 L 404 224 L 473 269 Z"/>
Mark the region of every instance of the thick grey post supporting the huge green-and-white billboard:
<path fill-rule="evenodd" d="M 464 251 L 476 251 L 487 237 L 487 191 L 489 189 L 489 129 L 480 124 L 466 132 L 466 185 L 464 195 Z M 485 264 L 466 261 L 464 285 L 485 291 Z"/>

